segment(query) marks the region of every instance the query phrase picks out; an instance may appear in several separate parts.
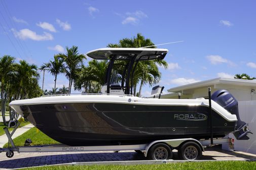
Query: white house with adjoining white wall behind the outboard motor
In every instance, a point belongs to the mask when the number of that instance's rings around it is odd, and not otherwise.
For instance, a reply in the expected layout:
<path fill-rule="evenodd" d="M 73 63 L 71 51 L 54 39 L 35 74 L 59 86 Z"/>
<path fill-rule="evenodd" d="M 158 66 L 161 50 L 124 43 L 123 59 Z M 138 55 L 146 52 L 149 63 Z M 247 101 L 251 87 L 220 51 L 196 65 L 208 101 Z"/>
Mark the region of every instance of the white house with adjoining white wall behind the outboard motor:
<path fill-rule="evenodd" d="M 235 140 L 234 149 L 256 154 L 256 81 L 243 79 L 216 78 L 168 89 L 168 94 L 161 98 L 208 98 L 208 87 L 213 93 L 219 89 L 228 90 L 237 100 L 239 115 L 242 121 L 248 123 L 253 134 L 248 134 L 249 140 Z M 235 138 L 233 134 L 229 137 Z M 228 147 L 223 145 L 223 149 Z"/>

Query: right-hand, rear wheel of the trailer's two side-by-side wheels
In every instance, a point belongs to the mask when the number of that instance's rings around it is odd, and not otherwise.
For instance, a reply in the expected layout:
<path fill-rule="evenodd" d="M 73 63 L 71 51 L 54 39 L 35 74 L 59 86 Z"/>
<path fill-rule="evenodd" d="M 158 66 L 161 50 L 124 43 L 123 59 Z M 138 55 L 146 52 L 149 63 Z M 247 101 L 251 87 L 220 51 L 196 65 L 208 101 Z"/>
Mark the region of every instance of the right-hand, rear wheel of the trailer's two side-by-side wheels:
<path fill-rule="evenodd" d="M 195 142 L 186 142 L 178 149 L 178 155 L 184 160 L 197 160 L 202 156 L 202 149 Z"/>

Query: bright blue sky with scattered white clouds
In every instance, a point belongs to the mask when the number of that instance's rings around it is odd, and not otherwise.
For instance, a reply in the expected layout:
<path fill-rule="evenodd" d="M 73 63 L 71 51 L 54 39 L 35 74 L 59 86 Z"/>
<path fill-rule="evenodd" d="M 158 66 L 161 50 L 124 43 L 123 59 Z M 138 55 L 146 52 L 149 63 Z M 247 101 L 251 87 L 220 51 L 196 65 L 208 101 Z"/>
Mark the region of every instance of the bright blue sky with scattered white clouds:
<path fill-rule="evenodd" d="M 141 33 L 155 44 L 184 41 L 157 46 L 169 50 L 157 84 L 164 93 L 217 77 L 256 77 L 255 7 L 256 1 L 0 0 L 0 56 L 40 67 L 66 46 L 85 54 Z M 42 79 L 41 73 L 41 87 Z M 68 81 L 60 75 L 57 87 L 63 85 Z M 46 73 L 44 89 L 52 87 L 54 77 Z M 145 85 L 142 96 L 151 89 Z"/>

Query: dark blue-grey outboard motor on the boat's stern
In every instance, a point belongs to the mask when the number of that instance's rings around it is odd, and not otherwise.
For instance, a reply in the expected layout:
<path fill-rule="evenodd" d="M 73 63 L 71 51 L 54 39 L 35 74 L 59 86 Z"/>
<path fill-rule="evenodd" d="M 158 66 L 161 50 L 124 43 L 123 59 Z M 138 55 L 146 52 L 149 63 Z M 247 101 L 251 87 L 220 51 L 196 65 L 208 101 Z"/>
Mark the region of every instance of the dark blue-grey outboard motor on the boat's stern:
<path fill-rule="evenodd" d="M 237 140 L 248 140 L 247 133 L 250 131 L 247 129 L 245 122 L 241 121 L 238 111 L 238 101 L 235 97 L 230 94 L 227 90 L 217 90 L 211 95 L 211 99 L 216 103 L 220 104 L 223 108 L 228 110 L 232 115 L 236 115 L 237 124 L 233 134 Z"/>

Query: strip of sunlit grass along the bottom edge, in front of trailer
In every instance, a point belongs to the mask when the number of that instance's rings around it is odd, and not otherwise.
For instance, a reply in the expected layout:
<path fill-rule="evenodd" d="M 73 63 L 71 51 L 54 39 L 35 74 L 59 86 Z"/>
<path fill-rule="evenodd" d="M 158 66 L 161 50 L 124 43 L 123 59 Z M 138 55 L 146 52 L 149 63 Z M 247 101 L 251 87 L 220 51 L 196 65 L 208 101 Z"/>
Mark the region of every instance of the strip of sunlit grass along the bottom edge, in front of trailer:
<path fill-rule="evenodd" d="M 248 161 L 207 161 L 207 162 L 185 162 L 185 163 L 168 163 L 168 164 L 149 164 L 149 165 L 78 165 L 78 166 L 71 166 L 71 165 L 62 165 L 62 166 L 41 166 L 41 167 L 32 167 L 32 168 L 25 168 L 25 169 L 35 169 L 35 170 L 42 170 L 42 169 L 56 169 L 56 170 L 67 170 L 67 169 L 76 169 L 76 170 L 87 170 L 87 169 L 97 169 L 97 170 L 106 170 L 106 169 L 113 169 L 113 170 L 129 170 L 129 169 L 232 169 L 232 170 L 249 170 L 255 169 L 256 162 L 248 162 Z"/>

